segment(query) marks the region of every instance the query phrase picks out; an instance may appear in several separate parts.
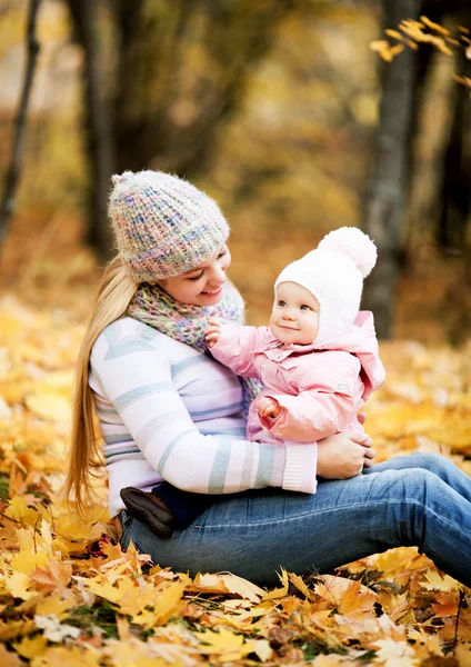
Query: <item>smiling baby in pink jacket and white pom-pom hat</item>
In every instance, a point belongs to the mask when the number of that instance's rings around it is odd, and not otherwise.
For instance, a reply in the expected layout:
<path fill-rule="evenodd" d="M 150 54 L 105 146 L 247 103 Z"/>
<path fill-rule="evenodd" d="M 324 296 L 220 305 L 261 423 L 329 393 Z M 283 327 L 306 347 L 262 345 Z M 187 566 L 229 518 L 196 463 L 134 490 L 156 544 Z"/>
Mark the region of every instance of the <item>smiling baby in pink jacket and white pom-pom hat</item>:
<path fill-rule="evenodd" d="M 363 278 L 375 261 L 368 236 L 342 227 L 281 271 L 269 327 L 208 318 L 212 356 L 263 382 L 250 406 L 249 440 L 312 442 L 339 431 L 364 434 L 357 412 L 384 380 L 373 316 L 359 312 Z"/>

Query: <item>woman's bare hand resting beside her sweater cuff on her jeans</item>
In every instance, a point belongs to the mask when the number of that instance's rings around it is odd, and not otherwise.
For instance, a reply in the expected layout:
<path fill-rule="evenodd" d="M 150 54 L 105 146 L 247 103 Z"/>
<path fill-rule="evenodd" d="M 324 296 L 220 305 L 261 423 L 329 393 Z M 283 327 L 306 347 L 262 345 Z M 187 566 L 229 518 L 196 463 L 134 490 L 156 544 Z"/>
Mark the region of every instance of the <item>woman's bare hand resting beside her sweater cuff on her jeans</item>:
<path fill-rule="evenodd" d="M 373 441 L 364 435 L 335 434 L 318 442 L 318 476 L 349 479 L 373 465 Z"/>

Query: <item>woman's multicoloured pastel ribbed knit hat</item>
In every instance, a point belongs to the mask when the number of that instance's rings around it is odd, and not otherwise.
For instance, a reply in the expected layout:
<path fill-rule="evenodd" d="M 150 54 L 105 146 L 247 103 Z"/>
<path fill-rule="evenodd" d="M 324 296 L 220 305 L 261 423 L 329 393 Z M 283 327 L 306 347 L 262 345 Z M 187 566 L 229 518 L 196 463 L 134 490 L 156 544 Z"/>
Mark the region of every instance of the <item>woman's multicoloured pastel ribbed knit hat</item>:
<path fill-rule="evenodd" d="M 118 251 L 138 282 L 197 268 L 229 236 L 218 205 L 188 181 L 162 171 L 112 177 L 108 212 Z"/>

